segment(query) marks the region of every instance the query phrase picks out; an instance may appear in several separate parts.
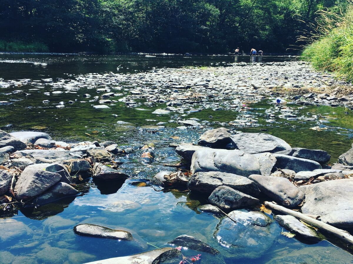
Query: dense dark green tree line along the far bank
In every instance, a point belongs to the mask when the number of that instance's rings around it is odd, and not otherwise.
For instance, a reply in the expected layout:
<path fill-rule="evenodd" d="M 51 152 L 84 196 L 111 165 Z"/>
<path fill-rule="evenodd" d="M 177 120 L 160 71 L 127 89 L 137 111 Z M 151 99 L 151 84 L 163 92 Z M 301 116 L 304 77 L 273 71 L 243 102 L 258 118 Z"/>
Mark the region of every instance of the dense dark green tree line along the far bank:
<path fill-rule="evenodd" d="M 304 26 L 295 14 L 344 1 L 1 0 L 0 39 L 60 52 L 283 52 Z"/>

